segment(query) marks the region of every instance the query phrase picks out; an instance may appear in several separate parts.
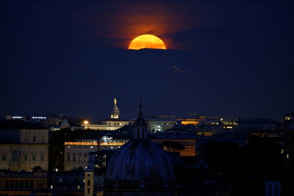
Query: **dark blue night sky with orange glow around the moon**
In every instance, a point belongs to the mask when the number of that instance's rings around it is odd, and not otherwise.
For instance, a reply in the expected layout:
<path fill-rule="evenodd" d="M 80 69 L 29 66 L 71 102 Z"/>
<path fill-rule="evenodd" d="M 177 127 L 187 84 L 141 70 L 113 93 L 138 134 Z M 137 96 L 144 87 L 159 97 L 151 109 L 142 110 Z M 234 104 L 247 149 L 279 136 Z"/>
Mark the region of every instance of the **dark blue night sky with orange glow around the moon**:
<path fill-rule="evenodd" d="M 5 1 L 0 115 L 294 112 L 293 1 Z M 153 34 L 167 50 L 127 50 Z M 172 66 L 181 71 L 171 72 Z"/>

